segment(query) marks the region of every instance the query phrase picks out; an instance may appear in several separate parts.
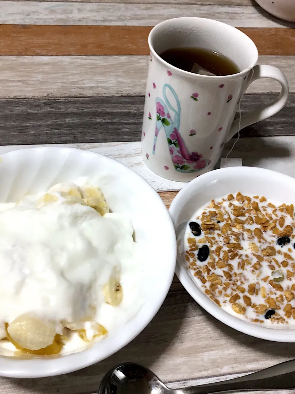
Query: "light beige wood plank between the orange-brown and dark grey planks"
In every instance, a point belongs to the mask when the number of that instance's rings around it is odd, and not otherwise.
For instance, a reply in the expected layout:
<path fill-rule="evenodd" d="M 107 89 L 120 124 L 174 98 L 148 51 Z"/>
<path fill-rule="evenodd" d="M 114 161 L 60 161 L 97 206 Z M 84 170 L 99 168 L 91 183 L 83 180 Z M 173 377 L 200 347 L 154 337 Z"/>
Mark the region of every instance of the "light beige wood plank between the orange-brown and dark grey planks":
<path fill-rule="evenodd" d="M 144 95 L 149 56 L 2 56 L 0 98 Z M 260 56 L 259 64 L 280 68 L 295 92 L 295 56 Z M 275 93 L 270 79 L 253 82 L 248 93 Z"/>

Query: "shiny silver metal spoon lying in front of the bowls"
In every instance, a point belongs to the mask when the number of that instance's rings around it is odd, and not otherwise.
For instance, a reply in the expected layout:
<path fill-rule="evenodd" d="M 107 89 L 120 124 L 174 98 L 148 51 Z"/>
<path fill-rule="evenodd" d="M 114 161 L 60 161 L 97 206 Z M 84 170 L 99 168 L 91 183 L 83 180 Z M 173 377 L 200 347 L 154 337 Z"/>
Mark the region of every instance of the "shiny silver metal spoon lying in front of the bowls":
<path fill-rule="evenodd" d="M 282 362 L 236 379 L 176 390 L 166 387 L 149 369 L 125 362 L 105 374 L 98 394 L 212 394 L 294 388 L 295 360 Z"/>

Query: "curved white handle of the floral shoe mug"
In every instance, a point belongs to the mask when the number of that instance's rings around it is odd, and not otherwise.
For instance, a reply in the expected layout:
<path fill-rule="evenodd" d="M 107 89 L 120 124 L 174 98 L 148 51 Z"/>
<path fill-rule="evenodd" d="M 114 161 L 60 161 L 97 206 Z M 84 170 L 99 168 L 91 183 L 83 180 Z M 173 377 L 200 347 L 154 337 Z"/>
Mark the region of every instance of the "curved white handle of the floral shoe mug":
<path fill-rule="evenodd" d="M 235 119 L 232 122 L 232 126 L 229 130 L 226 142 L 229 142 L 229 140 L 234 136 L 234 134 L 239 131 L 239 124 L 241 130 L 246 126 L 253 125 L 253 123 L 263 121 L 264 119 L 275 115 L 275 113 L 279 112 L 286 104 L 289 95 L 289 85 L 287 78 L 285 74 L 282 73 L 282 71 L 277 69 L 277 67 L 266 64 L 256 65 L 253 67 L 253 76 L 252 78 L 250 78 L 250 82 L 247 85 L 246 89 L 252 82 L 256 81 L 259 78 L 271 78 L 279 82 L 282 86 L 280 94 L 273 102 L 268 104 L 266 107 L 243 115 L 240 121 L 239 119 Z"/>

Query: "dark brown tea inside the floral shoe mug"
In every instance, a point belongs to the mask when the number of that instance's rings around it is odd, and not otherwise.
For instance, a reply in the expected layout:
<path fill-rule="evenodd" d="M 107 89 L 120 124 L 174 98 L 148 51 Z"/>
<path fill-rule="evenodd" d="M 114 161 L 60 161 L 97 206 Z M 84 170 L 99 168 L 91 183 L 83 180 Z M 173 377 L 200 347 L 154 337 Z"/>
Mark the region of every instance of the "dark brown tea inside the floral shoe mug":
<path fill-rule="evenodd" d="M 203 75 L 232 75 L 240 72 L 234 61 L 204 48 L 171 48 L 159 56 L 178 69 Z"/>

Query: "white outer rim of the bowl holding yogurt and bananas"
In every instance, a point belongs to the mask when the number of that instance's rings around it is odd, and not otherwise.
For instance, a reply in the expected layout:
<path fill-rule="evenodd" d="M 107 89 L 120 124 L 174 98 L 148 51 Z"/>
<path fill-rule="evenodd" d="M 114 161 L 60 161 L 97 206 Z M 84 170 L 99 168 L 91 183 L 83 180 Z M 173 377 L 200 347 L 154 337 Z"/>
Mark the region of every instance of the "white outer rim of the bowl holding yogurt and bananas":
<path fill-rule="evenodd" d="M 103 159 L 108 162 L 116 163 L 118 167 L 125 169 L 125 171 L 130 171 L 133 174 L 137 182 L 142 182 L 147 189 L 149 189 L 150 193 L 155 196 L 155 199 L 159 201 L 159 204 L 162 204 L 163 208 L 163 215 L 165 220 L 167 221 L 167 231 L 170 232 L 169 238 L 171 239 L 171 248 L 169 248 L 171 253 L 171 261 L 173 263 L 170 264 L 168 269 L 166 270 L 166 280 L 159 289 L 159 297 L 157 303 L 154 304 L 153 311 L 144 316 L 138 323 L 136 329 L 134 329 L 134 322 L 131 320 L 127 322 L 125 326 L 125 331 L 127 335 L 125 335 L 124 339 L 120 338 L 118 335 L 119 333 L 114 333 L 109 338 L 105 338 L 104 340 L 100 341 L 98 344 L 94 344 L 91 348 L 86 349 L 84 351 L 80 351 L 77 353 L 71 353 L 69 355 L 64 355 L 62 357 L 57 358 L 35 358 L 29 360 L 14 360 L 13 357 L 6 357 L 0 356 L 0 376 L 5 377 L 16 377 L 16 378 L 37 378 L 37 377 L 48 377 L 48 376 L 57 376 L 66 374 L 69 372 L 74 372 L 80 369 L 83 369 L 87 366 L 93 365 L 96 362 L 102 361 L 107 357 L 111 356 L 112 354 L 116 353 L 124 346 L 129 344 L 136 336 L 138 336 L 142 330 L 151 322 L 154 316 L 159 311 L 162 303 L 164 302 L 168 291 L 170 289 L 174 272 L 175 272 L 175 264 L 176 264 L 176 255 L 177 255 L 177 245 L 176 245 L 176 236 L 175 230 L 173 226 L 173 222 L 171 219 L 168 210 L 164 202 L 162 201 L 161 197 L 155 191 L 152 186 L 138 173 L 133 171 L 131 168 L 127 167 L 127 165 L 118 162 L 117 160 L 111 159 L 107 156 L 104 156 L 100 153 L 92 152 L 92 151 L 84 151 L 83 149 L 77 148 L 70 148 L 70 147 L 33 147 L 33 148 L 24 148 L 24 149 L 17 149 L 15 151 L 10 151 L 1 155 L 1 157 L 15 154 L 18 151 L 28 151 L 30 154 L 31 151 L 46 151 L 52 150 L 56 151 L 56 153 L 65 153 L 65 151 L 75 151 L 79 152 L 79 154 L 83 155 L 92 155 L 93 157 L 99 156 L 100 159 Z M 173 245 L 175 247 L 173 247 Z M 139 313 L 139 312 L 138 312 Z M 103 350 L 100 350 L 99 353 L 96 351 L 96 345 L 101 345 Z"/>

